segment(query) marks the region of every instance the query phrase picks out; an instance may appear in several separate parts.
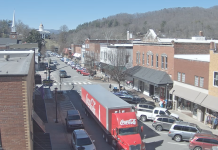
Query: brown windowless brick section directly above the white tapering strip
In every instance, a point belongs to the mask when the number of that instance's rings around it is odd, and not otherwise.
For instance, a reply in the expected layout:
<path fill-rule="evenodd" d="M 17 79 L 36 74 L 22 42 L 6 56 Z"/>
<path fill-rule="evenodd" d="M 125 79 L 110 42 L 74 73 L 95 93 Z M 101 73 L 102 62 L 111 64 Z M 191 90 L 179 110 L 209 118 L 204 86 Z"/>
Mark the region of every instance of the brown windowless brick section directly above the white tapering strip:
<path fill-rule="evenodd" d="M 209 43 L 174 43 L 175 54 L 209 54 Z"/>

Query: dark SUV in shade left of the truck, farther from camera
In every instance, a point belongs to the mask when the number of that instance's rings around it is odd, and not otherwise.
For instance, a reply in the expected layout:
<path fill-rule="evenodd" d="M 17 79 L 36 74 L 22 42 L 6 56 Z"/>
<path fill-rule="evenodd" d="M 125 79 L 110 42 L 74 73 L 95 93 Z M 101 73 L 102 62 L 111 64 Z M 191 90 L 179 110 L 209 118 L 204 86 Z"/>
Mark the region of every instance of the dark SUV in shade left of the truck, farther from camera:
<path fill-rule="evenodd" d="M 67 131 L 73 131 L 75 129 L 84 129 L 80 113 L 78 110 L 68 110 L 66 120 Z"/>

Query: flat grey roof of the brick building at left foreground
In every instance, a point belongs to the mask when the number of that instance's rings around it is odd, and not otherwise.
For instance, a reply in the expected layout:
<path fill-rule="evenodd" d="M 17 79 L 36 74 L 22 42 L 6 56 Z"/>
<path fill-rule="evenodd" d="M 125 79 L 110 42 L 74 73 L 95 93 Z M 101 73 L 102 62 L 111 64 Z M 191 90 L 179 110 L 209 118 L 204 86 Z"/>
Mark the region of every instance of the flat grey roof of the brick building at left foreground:
<path fill-rule="evenodd" d="M 10 55 L 8 61 L 4 55 Z M 34 51 L 0 51 L 0 75 L 28 75 Z"/>

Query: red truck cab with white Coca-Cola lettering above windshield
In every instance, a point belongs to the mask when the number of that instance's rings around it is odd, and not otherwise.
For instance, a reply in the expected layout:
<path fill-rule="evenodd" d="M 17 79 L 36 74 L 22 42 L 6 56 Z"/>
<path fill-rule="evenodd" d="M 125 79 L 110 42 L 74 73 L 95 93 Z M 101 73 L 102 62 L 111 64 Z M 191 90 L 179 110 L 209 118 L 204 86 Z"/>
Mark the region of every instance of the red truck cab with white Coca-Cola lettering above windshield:
<path fill-rule="evenodd" d="M 139 128 L 134 112 L 112 114 L 112 146 L 115 149 L 145 150 L 141 132 L 142 128 Z"/>

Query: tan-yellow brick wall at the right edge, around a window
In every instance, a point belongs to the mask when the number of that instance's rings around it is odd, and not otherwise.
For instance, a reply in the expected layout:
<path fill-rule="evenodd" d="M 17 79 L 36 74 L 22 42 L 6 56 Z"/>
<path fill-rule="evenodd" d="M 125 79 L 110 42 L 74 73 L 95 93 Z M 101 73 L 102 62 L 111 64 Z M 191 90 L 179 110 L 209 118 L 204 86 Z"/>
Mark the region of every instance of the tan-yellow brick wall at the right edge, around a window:
<path fill-rule="evenodd" d="M 218 72 L 218 53 L 210 50 L 209 95 L 218 97 L 218 87 L 214 86 L 214 71 Z"/>

